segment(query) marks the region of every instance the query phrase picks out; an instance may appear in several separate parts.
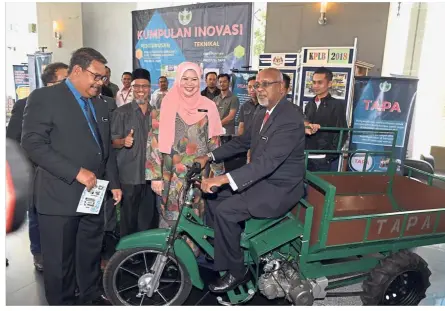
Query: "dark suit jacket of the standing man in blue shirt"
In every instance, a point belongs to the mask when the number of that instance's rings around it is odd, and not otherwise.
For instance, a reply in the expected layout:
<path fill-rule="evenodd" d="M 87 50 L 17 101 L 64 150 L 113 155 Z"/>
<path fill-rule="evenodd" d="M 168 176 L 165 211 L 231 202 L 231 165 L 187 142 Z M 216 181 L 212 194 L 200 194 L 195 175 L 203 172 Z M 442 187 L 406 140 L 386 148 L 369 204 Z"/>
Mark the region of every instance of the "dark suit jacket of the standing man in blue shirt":
<path fill-rule="evenodd" d="M 104 155 L 92 135 L 82 109 L 65 82 L 34 90 L 23 118 L 22 147 L 37 170 L 34 202 L 47 215 L 75 216 L 85 186 L 77 182 L 81 167 L 98 179 L 108 180 L 109 189 L 119 189 L 116 156 L 111 146 L 110 113 L 107 104 L 92 99 Z"/>

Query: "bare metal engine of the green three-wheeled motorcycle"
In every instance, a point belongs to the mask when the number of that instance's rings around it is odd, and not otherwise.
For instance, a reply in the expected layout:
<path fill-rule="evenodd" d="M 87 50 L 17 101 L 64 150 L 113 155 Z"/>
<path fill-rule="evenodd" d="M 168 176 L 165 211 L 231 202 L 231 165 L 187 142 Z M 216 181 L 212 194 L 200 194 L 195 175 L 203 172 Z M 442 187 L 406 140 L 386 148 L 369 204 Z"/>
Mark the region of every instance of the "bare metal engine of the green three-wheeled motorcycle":
<path fill-rule="evenodd" d="M 292 304 L 300 306 L 310 306 L 314 302 L 311 284 L 301 280 L 298 271 L 287 261 L 267 260 L 258 288 L 268 299 L 286 297 Z"/>

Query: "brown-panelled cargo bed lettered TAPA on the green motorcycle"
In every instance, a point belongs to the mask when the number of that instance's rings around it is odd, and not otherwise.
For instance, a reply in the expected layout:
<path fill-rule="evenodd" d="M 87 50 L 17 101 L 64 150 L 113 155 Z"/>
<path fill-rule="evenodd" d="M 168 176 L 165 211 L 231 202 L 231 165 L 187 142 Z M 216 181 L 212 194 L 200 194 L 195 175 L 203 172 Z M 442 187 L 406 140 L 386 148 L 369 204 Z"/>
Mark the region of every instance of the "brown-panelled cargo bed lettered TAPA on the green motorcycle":
<path fill-rule="evenodd" d="M 306 200 L 314 206 L 311 246 L 323 240 L 323 232 L 325 246 L 445 233 L 444 189 L 402 176 L 394 176 L 392 191 L 387 175 L 317 176 L 335 186 L 336 193 L 334 202 L 325 204 L 322 190 L 312 184 L 307 187 Z M 403 213 L 408 211 L 419 213 Z M 304 217 L 301 209 L 299 219 Z M 322 230 L 323 224 L 328 230 Z"/>

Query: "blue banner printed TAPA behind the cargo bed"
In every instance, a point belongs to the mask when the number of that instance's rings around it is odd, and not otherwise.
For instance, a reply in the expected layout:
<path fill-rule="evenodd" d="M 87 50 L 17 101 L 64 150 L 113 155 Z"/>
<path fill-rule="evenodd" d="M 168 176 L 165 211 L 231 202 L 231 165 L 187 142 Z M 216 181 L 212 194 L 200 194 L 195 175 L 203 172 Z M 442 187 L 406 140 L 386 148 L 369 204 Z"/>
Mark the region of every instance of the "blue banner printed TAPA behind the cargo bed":
<path fill-rule="evenodd" d="M 395 159 L 403 165 L 417 94 L 417 79 L 357 77 L 354 85 L 352 127 L 397 131 Z M 351 135 L 349 169 L 361 171 L 365 156 L 360 151 L 391 151 L 392 134 Z M 366 171 L 385 172 L 390 155 L 369 155 Z"/>

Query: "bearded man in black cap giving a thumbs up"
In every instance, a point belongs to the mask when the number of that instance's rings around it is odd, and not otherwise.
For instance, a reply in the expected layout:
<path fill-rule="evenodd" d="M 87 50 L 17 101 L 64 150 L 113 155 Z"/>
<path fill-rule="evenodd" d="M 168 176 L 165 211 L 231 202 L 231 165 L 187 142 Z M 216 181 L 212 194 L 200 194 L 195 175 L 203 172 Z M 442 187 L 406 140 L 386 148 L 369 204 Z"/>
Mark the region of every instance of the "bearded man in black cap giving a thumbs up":
<path fill-rule="evenodd" d="M 148 230 L 155 217 L 155 195 L 145 180 L 148 132 L 151 127 L 150 73 L 133 71 L 133 101 L 118 107 L 111 122 L 113 146 L 122 185 L 120 235 Z"/>

